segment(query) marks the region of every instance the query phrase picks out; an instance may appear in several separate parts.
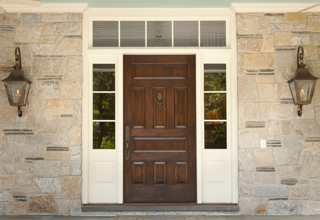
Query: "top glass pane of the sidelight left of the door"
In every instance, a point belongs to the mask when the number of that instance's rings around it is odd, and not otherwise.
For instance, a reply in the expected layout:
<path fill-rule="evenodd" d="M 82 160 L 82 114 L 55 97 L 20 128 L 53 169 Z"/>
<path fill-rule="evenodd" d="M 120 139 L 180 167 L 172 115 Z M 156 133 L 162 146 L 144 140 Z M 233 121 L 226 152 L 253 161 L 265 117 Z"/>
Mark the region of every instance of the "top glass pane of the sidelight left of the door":
<path fill-rule="evenodd" d="M 114 64 L 93 64 L 93 91 L 115 91 L 114 68 Z"/>

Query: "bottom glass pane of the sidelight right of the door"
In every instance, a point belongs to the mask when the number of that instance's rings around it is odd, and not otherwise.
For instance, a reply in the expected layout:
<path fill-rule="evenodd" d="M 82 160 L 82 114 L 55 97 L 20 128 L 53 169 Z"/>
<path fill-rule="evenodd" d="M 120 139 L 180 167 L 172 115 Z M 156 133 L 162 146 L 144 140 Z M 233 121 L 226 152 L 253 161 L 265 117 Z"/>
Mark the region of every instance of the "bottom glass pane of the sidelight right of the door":
<path fill-rule="evenodd" d="M 205 149 L 226 149 L 226 122 L 205 122 Z"/>

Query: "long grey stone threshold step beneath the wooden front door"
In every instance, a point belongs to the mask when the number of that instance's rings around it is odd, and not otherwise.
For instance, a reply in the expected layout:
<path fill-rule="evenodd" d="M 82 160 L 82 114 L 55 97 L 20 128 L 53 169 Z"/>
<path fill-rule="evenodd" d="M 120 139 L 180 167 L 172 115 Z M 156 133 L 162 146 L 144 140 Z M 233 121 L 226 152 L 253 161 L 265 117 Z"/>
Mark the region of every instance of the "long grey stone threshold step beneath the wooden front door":
<path fill-rule="evenodd" d="M 123 204 L 83 204 L 81 211 L 239 211 L 232 203 L 123 203 Z"/>

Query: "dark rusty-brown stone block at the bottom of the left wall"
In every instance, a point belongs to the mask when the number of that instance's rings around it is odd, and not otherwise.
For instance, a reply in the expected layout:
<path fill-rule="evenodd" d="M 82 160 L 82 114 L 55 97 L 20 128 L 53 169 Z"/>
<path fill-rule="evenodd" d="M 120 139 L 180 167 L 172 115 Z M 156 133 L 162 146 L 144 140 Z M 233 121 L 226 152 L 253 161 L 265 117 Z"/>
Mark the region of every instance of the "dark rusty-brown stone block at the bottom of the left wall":
<path fill-rule="evenodd" d="M 30 195 L 28 200 L 29 210 L 32 212 L 56 212 L 56 201 L 53 195 Z"/>

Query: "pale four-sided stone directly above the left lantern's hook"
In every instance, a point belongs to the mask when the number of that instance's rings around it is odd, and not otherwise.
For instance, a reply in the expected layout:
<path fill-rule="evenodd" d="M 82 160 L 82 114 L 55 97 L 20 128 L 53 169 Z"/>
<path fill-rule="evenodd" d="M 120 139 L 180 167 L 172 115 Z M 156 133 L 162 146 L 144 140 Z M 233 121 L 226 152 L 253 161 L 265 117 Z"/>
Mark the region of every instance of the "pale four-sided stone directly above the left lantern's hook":
<path fill-rule="evenodd" d="M 38 43 L 42 27 L 16 26 L 15 42 Z"/>

